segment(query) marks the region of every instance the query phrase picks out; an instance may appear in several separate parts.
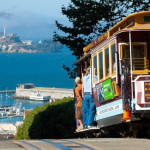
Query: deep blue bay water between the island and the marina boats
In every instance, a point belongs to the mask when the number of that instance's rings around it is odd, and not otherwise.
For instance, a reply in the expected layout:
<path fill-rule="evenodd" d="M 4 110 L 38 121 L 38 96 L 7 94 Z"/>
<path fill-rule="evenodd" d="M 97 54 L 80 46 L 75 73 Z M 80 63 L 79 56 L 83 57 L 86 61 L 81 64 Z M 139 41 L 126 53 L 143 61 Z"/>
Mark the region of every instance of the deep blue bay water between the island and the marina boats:
<path fill-rule="evenodd" d="M 75 58 L 65 47 L 61 53 L 0 53 L 0 90 L 15 90 L 17 84 L 34 83 L 37 87 L 74 88 L 63 64 L 72 66 Z M 0 96 L 0 106 L 21 105 L 25 109 L 40 107 L 47 102 L 12 99 Z M 0 122 L 22 121 L 23 118 L 0 119 Z"/>

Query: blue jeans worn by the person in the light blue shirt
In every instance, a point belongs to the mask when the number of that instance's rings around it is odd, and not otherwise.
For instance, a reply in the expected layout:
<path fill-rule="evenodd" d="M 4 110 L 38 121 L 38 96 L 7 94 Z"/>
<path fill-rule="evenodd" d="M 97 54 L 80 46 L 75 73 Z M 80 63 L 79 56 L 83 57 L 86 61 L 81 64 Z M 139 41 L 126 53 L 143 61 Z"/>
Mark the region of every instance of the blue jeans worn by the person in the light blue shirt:
<path fill-rule="evenodd" d="M 82 100 L 82 121 L 83 126 L 92 126 L 94 122 L 95 103 L 93 96 L 84 94 Z"/>

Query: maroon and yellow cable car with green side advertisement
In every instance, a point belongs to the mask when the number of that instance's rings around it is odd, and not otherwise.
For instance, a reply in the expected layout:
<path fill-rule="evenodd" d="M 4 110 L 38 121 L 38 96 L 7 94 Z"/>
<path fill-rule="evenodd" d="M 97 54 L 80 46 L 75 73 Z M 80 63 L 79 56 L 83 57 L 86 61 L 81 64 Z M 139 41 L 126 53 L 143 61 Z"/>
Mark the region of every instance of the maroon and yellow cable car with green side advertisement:
<path fill-rule="evenodd" d="M 100 129 L 150 133 L 150 11 L 130 14 L 83 48 L 77 74 L 91 67 Z M 95 76 L 98 81 L 95 81 Z"/>

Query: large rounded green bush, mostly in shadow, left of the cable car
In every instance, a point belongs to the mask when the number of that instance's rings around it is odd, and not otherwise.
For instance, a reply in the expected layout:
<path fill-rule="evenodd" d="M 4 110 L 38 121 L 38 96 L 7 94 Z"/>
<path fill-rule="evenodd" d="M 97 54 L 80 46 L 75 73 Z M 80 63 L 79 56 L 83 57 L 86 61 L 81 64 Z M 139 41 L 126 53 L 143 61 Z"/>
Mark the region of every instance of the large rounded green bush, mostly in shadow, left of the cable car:
<path fill-rule="evenodd" d="M 75 130 L 73 98 L 36 107 L 17 129 L 15 139 L 69 138 Z"/>

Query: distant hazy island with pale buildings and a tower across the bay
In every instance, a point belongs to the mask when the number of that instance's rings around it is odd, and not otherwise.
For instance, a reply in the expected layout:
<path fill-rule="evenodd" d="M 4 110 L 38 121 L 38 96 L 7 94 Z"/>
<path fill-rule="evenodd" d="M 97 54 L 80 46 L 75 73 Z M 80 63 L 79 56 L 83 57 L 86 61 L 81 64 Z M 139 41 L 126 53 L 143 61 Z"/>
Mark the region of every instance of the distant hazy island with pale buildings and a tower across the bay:
<path fill-rule="evenodd" d="M 0 32 L 0 53 L 47 53 L 60 52 L 62 45 L 59 42 L 53 42 L 48 39 L 43 42 L 33 43 L 32 40 L 20 40 L 20 37 L 15 33 L 6 34 Z"/>

